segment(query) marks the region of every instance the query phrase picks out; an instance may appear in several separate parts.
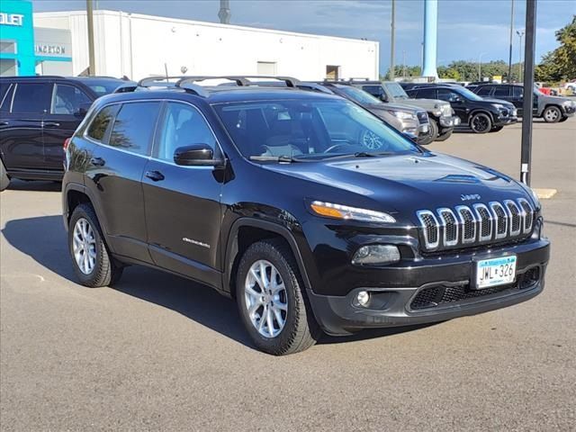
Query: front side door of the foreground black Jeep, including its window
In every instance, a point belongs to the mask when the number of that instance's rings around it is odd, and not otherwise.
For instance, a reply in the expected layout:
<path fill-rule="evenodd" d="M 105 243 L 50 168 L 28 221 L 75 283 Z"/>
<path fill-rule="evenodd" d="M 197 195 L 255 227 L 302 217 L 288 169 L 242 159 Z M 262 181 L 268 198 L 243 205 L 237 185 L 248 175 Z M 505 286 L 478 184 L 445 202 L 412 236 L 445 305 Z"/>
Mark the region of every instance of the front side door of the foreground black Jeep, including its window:
<path fill-rule="evenodd" d="M 157 266 L 206 284 L 220 284 L 220 175 L 212 166 L 177 166 L 175 149 L 220 148 L 200 112 L 167 102 L 142 184 L 150 255 Z"/>

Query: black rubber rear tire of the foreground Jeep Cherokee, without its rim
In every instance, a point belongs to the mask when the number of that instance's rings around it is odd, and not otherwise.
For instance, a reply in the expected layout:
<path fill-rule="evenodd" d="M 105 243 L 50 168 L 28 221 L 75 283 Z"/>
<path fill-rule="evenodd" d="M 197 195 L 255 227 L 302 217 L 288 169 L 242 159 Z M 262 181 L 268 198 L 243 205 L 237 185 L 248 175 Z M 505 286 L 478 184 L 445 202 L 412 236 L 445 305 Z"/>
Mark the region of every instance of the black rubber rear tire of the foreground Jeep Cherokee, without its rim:
<path fill-rule="evenodd" d="M 74 230 L 78 220 L 86 220 L 92 232 L 94 233 L 95 243 L 95 259 L 94 268 L 90 273 L 84 273 L 78 264 L 74 255 Z M 110 257 L 108 247 L 103 240 L 102 229 L 100 223 L 90 204 L 79 204 L 68 223 L 68 250 L 72 258 L 72 266 L 76 277 L 79 279 L 80 284 L 90 288 L 98 288 L 101 286 L 110 286 L 118 282 L 122 275 L 122 267 L 117 266 Z"/>

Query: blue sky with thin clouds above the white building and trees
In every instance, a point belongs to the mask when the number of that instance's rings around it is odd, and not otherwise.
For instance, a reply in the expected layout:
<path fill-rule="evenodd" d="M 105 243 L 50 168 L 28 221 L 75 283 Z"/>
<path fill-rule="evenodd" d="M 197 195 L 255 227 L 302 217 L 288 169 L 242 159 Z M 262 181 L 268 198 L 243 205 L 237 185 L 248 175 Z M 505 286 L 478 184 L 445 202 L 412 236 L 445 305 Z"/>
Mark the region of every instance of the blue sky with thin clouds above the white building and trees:
<path fill-rule="evenodd" d="M 380 70 L 390 65 L 392 0 L 229 0 L 231 24 L 380 42 Z M 34 12 L 85 9 L 85 0 L 32 0 Z M 509 58 L 511 0 L 438 0 L 437 64 Z M 516 30 L 525 28 L 526 0 L 514 0 Z M 98 9 L 218 23 L 219 0 L 94 0 Z M 536 59 L 556 48 L 554 32 L 572 21 L 576 0 L 538 0 Z M 423 0 L 396 0 L 396 64 L 420 65 Z"/>

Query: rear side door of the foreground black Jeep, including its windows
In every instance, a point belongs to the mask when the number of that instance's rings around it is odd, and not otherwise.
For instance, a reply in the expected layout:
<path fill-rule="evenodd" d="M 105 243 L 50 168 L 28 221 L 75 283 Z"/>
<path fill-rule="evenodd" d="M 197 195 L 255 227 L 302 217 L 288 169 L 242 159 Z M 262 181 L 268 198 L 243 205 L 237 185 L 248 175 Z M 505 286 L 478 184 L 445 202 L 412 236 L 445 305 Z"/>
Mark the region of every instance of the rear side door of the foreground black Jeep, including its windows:
<path fill-rule="evenodd" d="M 85 132 L 94 142 L 86 157 L 86 186 L 109 244 L 114 253 L 143 262 L 150 262 L 150 256 L 141 179 L 160 106 L 160 101 L 107 105 Z"/>

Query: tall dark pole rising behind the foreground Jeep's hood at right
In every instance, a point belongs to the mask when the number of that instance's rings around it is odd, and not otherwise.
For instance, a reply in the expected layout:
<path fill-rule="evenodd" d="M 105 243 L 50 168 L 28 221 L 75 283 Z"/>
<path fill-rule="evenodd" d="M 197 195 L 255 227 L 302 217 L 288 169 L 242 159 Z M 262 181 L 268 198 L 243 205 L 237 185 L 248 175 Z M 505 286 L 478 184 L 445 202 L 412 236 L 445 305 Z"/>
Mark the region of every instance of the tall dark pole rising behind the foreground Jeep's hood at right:
<path fill-rule="evenodd" d="M 524 32 L 523 32 L 524 34 Z M 522 149 L 520 155 L 520 180 L 530 185 L 532 164 L 532 103 L 534 102 L 534 51 L 536 50 L 536 0 L 526 0 L 526 47 L 524 49 L 524 101 L 522 109 Z M 522 62 L 520 62 L 520 65 Z"/>

